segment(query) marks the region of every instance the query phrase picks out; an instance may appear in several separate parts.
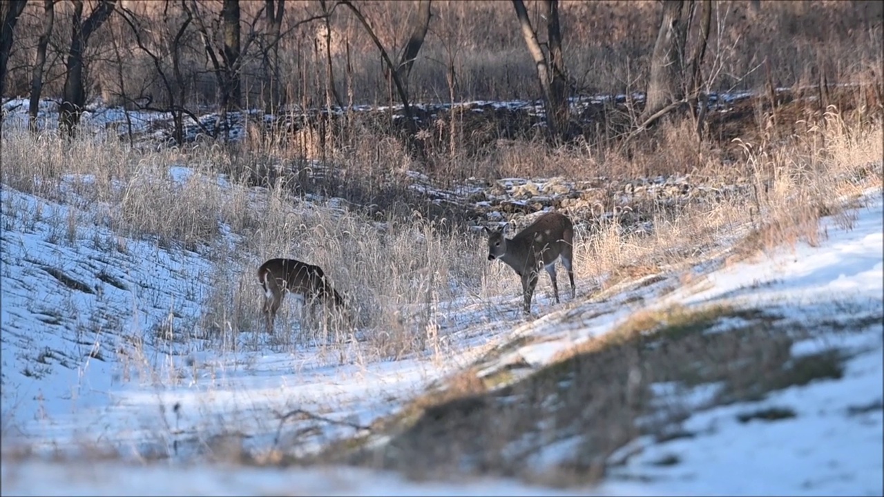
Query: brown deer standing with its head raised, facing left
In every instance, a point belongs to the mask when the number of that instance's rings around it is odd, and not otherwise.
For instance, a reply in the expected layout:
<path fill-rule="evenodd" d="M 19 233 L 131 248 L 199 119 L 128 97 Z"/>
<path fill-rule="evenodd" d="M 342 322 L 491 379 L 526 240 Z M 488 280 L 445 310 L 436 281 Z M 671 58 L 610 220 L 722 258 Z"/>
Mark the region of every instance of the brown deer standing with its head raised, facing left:
<path fill-rule="evenodd" d="M 490 230 L 488 233 L 488 260 L 499 259 L 507 263 L 522 277 L 522 294 L 525 298 L 525 314 L 531 313 L 531 297 L 537 286 L 537 274 L 544 265 L 552 279 L 552 293 L 559 302 L 559 286 L 555 280 L 555 260 L 561 256 L 561 263 L 568 270 L 571 280 L 571 298 L 575 297 L 574 271 L 571 270 L 574 242 L 574 224 L 558 212 L 547 212 L 530 226 L 507 239 L 503 235 L 506 226 Z"/>

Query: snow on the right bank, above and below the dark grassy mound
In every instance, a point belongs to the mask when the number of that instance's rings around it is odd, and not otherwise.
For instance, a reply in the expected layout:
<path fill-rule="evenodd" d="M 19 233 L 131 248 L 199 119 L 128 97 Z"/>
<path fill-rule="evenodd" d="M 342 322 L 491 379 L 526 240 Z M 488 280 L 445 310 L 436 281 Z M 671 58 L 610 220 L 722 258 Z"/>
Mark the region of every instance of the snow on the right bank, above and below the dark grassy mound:
<path fill-rule="evenodd" d="M 623 292 L 606 308 L 586 304 L 568 311 L 572 317 L 581 312 L 590 316 L 575 327 L 569 325 L 571 320 L 548 314 L 520 332 L 543 335 L 546 340 L 518 348 L 483 374 L 520 359 L 537 368 L 575 343 L 606 333 L 638 309 L 727 303 L 773 308 L 811 326 L 819 319 L 850 325 L 851 319 L 872 317 L 873 324 L 865 328 L 821 333 L 793 344 L 795 357 L 833 349 L 850 356 L 839 380 L 815 380 L 769 394 L 765 401 L 711 409 L 716 384 L 655 385 L 660 405 L 692 413 L 682 424 L 692 436 L 663 443 L 647 437 L 633 440 L 610 456 L 614 466 L 594 491 L 623 491 L 623 485 L 629 485 L 631 491 L 645 494 L 880 495 L 884 493 L 880 191 L 868 192 L 864 203 L 852 212 L 847 229 L 842 218 L 824 218 L 827 238 L 817 247 L 799 243 L 795 248 L 776 248 L 757 260 L 711 271 L 662 297 L 653 296 L 652 285 Z M 649 298 L 632 308 L 618 305 L 636 294 Z M 727 333 L 728 326 L 733 324 L 721 323 L 713 333 Z M 740 415 L 774 408 L 790 409 L 795 417 L 739 421 Z M 560 440 L 533 460 L 540 466 L 567 461 L 576 444 L 574 439 Z"/>

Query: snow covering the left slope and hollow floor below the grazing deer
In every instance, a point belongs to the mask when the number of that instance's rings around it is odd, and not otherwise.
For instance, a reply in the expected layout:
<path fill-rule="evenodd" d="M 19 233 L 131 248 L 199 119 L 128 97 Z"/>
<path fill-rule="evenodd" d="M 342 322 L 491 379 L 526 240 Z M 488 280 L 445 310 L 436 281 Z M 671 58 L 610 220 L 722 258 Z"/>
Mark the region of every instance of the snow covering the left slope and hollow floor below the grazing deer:
<path fill-rule="evenodd" d="M 180 460 L 237 432 L 249 450 L 306 450 L 390 413 L 395 400 L 469 363 L 505 325 L 453 319 L 457 348 L 397 362 L 344 350 L 340 363 L 320 347 L 274 353 L 263 333 L 223 343 L 195 325 L 209 291 L 205 258 L 120 238 L 97 221 L 68 235 L 72 207 L 11 188 L 2 195 L 4 445 L 97 443 Z M 295 409 L 339 424 L 284 423 Z"/>

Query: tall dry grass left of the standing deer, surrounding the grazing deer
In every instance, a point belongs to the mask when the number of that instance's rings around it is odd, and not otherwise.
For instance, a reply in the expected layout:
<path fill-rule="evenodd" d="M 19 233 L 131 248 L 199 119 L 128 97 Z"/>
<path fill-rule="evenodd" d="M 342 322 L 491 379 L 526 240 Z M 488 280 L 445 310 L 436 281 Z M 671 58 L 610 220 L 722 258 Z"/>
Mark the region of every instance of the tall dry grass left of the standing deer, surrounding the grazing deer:
<path fill-rule="evenodd" d="M 438 348 L 439 316 L 453 298 L 479 287 L 481 253 L 449 220 L 420 210 L 378 217 L 339 207 L 339 198 L 309 201 L 286 181 L 252 187 L 246 176 L 217 173 L 249 162 L 225 149 L 140 151 L 112 139 L 65 141 L 15 130 L 4 134 L 3 145 L 4 187 L 75 205 L 71 212 L 121 237 L 208 257 L 216 270 L 201 276 L 208 297 L 198 335 L 221 346 L 235 348 L 240 332 L 263 329 L 255 271 L 272 257 L 323 267 L 352 317 L 318 328 L 300 324 L 296 313 L 288 315 L 295 307 L 289 297 L 277 340 L 284 348 L 360 340 L 371 357 L 387 358 Z M 85 219 L 59 219 L 52 241 L 79 222 Z"/>

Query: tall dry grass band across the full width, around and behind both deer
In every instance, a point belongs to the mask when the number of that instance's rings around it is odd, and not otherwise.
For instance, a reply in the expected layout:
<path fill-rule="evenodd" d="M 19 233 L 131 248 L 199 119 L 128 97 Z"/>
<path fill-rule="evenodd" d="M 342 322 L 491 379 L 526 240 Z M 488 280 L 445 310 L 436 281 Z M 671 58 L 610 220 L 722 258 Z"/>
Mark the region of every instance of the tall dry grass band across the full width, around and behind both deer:
<path fill-rule="evenodd" d="M 749 133 L 721 150 L 715 141 L 699 141 L 690 120 L 674 121 L 643 138 L 632 157 L 517 141 L 500 153 L 449 164 L 446 175 L 608 176 L 610 187 L 598 195 L 613 216 L 586 218 L 563 209 L 578 221 L 575 271 L 583 295 L 690 264 L 749 233 L 747 253 L 819 242 L 819 216 L 837 212 L 842 197 L 880 187 L 880 117 L 833 107 L 789 130 Z M 517 300 L 518 279 L 485 260 L 482 236 L 471 229 L 476 220 L 447 216 L 419 200 L 408 188 L 412 164 L 398 141 L 370 128 L 345 138 L 327 143 L 325 162 L 317 163 L 273 140 L 133 149 L 114 139 L 65 141 L 8 130 L 0 178 L 5 187 L 76 203 L 123 238 L 209 257 L 215 270 L 201 276 L 209 296 L 200 327 L 222 348 L 238 347 L 241 332 L 261 328 L 255 268 L 271 257 L 320 265 L 351 302 L 352 321 L 316 326 L 302 326 L 293 312 L 286 314 L 293 309 L 286 304 L 276 337 L 282 348 L 319 344 L 401 357 L 438 348 L 446 319 L 470 306 L 489 320 L 512 318 L 505 312 Z M 309 174 L 299 169 L 304 164 Z M 255 180 L 268 169 L 278 171 L 275 180 Z M 618 182 L 676 172 L 690 172 L 694 186 L 714 195 L 629 197 Z M 635 219 L 644 219 L 645 227 L 636 229 Z M 59 220 L 57 238 L 76 242 L 77 224 L 76 217 Z M 538 291 L 548 290 L 542 278 Z M 255 338 L 255 347 L 261 343 Z"/>

